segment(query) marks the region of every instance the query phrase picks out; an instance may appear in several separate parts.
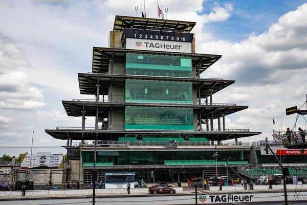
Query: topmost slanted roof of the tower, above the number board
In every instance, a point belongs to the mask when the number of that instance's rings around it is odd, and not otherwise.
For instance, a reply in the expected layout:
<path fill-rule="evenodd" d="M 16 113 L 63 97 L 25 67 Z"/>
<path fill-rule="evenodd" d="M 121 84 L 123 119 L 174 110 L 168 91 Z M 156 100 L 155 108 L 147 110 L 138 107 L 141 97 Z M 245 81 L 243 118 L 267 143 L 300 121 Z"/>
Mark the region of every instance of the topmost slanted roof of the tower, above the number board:
<path fill-rule="evenodd" d="M 179 20 L 167 20 L 157 18 L 141 18 L 134 16 L 115 16 L 113 31 L 123 31 L 123 29 L 153 29 L 164 31 L 181 31 L 189 33 L 196 22 L 182 22 Z"/>

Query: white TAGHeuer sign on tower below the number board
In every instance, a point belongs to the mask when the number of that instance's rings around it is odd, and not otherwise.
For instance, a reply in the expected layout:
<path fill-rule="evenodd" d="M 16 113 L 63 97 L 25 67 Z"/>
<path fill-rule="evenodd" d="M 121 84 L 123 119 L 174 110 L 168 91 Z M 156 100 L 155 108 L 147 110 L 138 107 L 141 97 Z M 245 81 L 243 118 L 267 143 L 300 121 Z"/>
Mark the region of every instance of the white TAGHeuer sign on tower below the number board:
<path fill-rule="evenodd" d="M 127 38 L 126 49 L 191 53 L 191 43 Z"/>

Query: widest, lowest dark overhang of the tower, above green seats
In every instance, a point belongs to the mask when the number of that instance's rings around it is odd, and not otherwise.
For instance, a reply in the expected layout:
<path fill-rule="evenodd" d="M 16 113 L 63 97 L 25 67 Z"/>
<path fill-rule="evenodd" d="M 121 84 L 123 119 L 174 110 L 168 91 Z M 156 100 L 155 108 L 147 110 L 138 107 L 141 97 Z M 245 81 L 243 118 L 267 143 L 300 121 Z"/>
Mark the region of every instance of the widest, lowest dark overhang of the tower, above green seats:
<path fill-rule="evenodd" d="M 194 137 L 207 137 L 210 140 L 229 140 L 234 138 L 259 135 L 261 132 L 249 131 L 180 131 L 180 130 L 74 130 L 56 129 L 45 130 L 46 133 L 56 139 L 72 140 L 118 140 L 118 137 L 129 135 L 193 135 Z"/>

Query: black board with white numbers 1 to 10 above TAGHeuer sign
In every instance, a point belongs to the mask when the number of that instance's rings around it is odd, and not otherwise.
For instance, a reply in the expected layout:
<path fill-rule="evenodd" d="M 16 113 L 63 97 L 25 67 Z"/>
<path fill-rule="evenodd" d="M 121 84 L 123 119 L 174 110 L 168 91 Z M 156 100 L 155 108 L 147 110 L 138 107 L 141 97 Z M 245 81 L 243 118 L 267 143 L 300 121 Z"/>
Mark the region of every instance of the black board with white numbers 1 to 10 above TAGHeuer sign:
<path fill-rule="evenodd" d="M 143 29 L 124 29 L 122 35 L 122 45 L 126 38 L 141 38 L 150 40 L 168 40 L 171 42 L 192 42 L 193 33 L 181 33 L 171 31 L 153 31 Z"/>

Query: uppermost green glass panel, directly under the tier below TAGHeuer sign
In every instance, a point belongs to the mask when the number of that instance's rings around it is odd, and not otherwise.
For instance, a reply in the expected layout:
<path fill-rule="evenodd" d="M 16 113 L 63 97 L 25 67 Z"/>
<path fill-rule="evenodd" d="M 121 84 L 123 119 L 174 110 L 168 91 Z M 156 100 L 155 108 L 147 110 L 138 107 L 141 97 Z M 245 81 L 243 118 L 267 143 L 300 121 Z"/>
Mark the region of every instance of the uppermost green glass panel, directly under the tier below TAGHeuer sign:
<path fill-rule="evenodd" d="M 125 69 L 127 75 L 192 77 L 192 58 L 127 53 Z"/>

